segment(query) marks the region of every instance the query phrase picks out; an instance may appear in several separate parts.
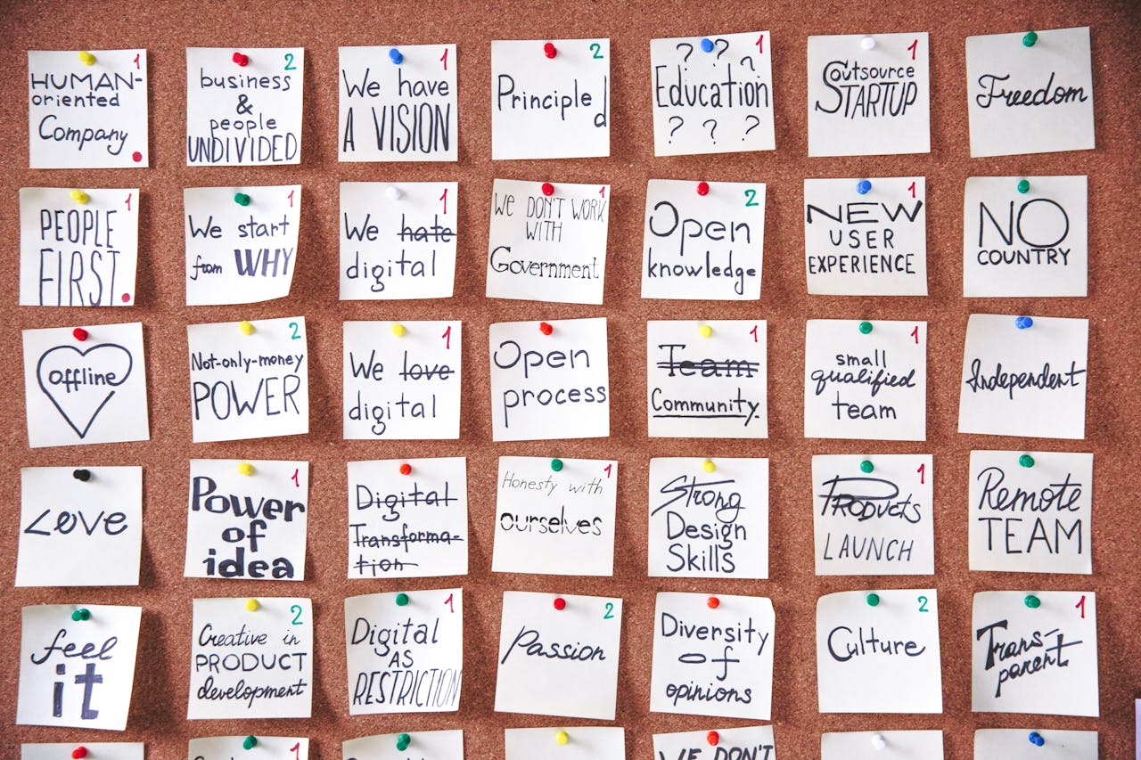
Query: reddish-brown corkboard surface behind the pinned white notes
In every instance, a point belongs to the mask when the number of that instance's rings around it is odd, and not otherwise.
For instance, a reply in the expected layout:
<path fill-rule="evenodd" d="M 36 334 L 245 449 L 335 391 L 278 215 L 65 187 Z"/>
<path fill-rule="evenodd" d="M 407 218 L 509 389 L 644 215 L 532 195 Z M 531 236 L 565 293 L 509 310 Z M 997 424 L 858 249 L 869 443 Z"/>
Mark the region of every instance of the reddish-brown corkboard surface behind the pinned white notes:
<path fill-rule="evenodd" d="M 502 757 L 503 728 L 555 725 L 558 719 L 493 711 L 495 642 L 504 589 L 621 595 L 625 600 L 620 665 L 618 712 L 613 725 L 626 729 L 628 755 L 648 758 L 656 731 L 743 725 L 745 721 L 652 714 L 649 671 L 654 595 L 659 590 L 767 595 L 777 614 L 774 723 L 783 758 L 819 752 L 820 733 L 872 728 L 942 728 L 948 758 L 971 755 L 977 727 L 1045 726 L 1101 731 L 1104 757 L 1132 757 L 1133 698 L 1141 688 L 1141 576 L 1136 573 L 1136 478 L 1141 456 L 1138 422 L 1141 326 L 1135 308 L 1138 277 L 1130 245 L 1141 234 L 1133 210 L 1141 164 L 1135 76 L 1141 72 L 1136 41 L 1141 15 L 1126 0 L 988 0 L 868 2 L 795 0 L 739 3 L 628 5 L 443 3 L 400 0 L 361 3 L 308 2 L 59 2 L 5 3 L 0 14 L 0 143 L 3 202 L 0 202 L 0 350 L 8 357 L 9 397 L 3 426 L 0 500 L 17 515 L 22 466 L 143 464 L 145 527 L 143 576 L 128 589 L 13 589 L 17 520 L 0 529 L 0 595 L 7 634 L 0 641 L 0 755 L 17 754 L 30 741 L 86 738 L 147 743 L 149 758 L 185 757 L 192 736 L 220 734 L 307 735 L 310 757 L 340 758 L 342 739 L 373 733 L 463 728 L 467 757 Z M 766 8 L 768 13 L 766 13 Z M 1098 149 L 1042 156 L 971 160 L 968 151 L 963 41 L 968 34 L 1089 25 L 1093 39 Z M 771 30 L 777 151 L 723 156 L 653 156 L 649 108 L 649 46 L 653 37 Z M 933 146 L 929 155 L 807 159 L 806 37 L 810 33 L 931 32 Z M 493 164 L 489 134 L 489 41 L 606 37 L 613 50 L 613 140 L 609 159 L 528 161 Z M 337 48 L 385 42 L 458 42 L 460 162 L 440 164 L 340 164 L 337 162 Z M 187 168 L 184 156 L 185 52 L 187 46 L 305 46 L 305 134 L 298 167 Z M 26 63 L 24 50 L 146 47 L 151 75 L 151 153 L 146 170 L 30 171 L 27 167 Z M 1090 297 L 1044 302 L 961 297 L 962 192 L 973 173 L 1087 173 L 1090 177 Z M 806 177 L 924 175 L 928 178 L 928 298 L 824 298 L 804 292 L 802 180 Z M 494 177 L 613 185 L 606 301 L 601 307 L 486 300 L 484 257 L 491 185 Z M 764 283 L 755 302 L 662 302 L 639 298 L 642 202 L 650 177 L 768 183 Z M 337 300 L 338 183 L 342 180 L 460 181 L 460 246 L 455 297 L 422 302 Z M 181 189 L 188 186 L 300 183 L 299 272 L 292 294 L 250 307 L 186 308 L 184 302 Z M 140 265 L 138 305 L 97 312 L 16 308 L 18 216 L 16 191 L 42 186 L 139 186 Z M 968 573 L 966 476 L 971 448 L 1002 448 L 1012 439 L 956 432 L 957 380 L 963 332 L 970 312 L 1034 313 L 1091 320 L 1087 438 L 1074 444 L 1027 440 L 1029 448 L 1093 451 L 1094 575 L 1026 576 Z M 306 437 L 248 443 L 192 444 L 188 417 L 186 324 L 304 314 L 309 329 L 311 432 Z M 545 444 L 494 444 L 488 421 L 486 331 L 504 320 L 605 315 L 610 320 L 614 401 L 609 439 Z M 768 320 L 771 437 L 758 443 L 655 439 L 646 436 L 646 320 L 715 315 Z M 804 320 L 810 317 L 925 318 L 929 321 L 928 440 L 876 443 L 874 451 L 932 452 L 936 466 L 936 551 L 933 579 L 882 580 L 925 587 L 941 603 L 944 714 L 915 717 L 820 715 L 816 704 L 814 616 L 818 596 L 858 589 L 865 581 L 816 577 L 812 565 L 810 456 L 858 453 L 859 442 L 806 440 L 802 435 L 801 372 Z M 443 443 L 341 440 L 341 329 L 345 320 L 462 318 L 466 323 L 462 436 Z M 92 445 L 79 450 L 31 451 L 24 429 L 23 390 L 16 379 L 19 329 L 100 321 L 141 320 L 149 379 L 148 443 Z M 646 576 L 647 462 L 653 455 L 759 455 L 771 461 L 771 575 L 763 582 L 710 582 Z M 623 466 L 618 492 L 617 561 L 613 579 L 564 579 L 491 573 L 496 458 L 550 453 L 607 456 Z M 466 455 L 469 462 L 471 572 L 466 592 L 466 678 L 458 713 L 407 717 L 348 717 L 342 599 L 355 593 L 396 590 L 394 582 L 345 580 L 347 516 L 345 462 L 388 456 Z M 183 579 L 187 460 L 202 458 L 308 459 L 311 462 L 309 558 L 300 584 Z M 881 582 L 867 579 L 867 584 Z M 426 579 L 404 588 L 443 588 L 454 580 Z M 970 609 L 978 590 L 1093 589 L 1099 595 L 1101 711 L 1099 720 L 972 714 L 970 710 Z M 889 585 L 889 588 L 890 588 Z M 196 596 L 306 595 L 316 624 L 316 693 L 313 719 L 187 722 L 191 599 Z M 126 734 L 14 727 L 17 681 L 18 608 L 38 603 L 136 604 L 144 607 L 138 674 Z M 572 723 L 578 721 L 570 721 Z M 589 721 L 583 721 L 589 722 Z"/>

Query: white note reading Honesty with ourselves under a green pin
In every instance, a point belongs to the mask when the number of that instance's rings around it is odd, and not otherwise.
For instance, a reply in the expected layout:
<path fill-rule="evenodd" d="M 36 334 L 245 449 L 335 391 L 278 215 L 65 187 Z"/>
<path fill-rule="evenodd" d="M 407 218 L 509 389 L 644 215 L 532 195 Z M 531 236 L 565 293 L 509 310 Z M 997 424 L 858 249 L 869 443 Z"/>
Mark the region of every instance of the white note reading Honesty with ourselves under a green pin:
<path fill-rule="evenodd" d="M 618 463 L 500 456 L 492 571 L 613 575 Z"/>

